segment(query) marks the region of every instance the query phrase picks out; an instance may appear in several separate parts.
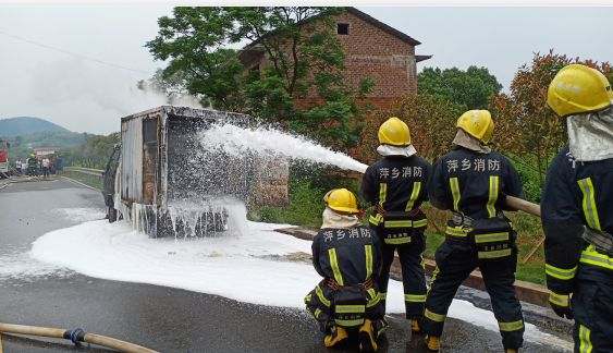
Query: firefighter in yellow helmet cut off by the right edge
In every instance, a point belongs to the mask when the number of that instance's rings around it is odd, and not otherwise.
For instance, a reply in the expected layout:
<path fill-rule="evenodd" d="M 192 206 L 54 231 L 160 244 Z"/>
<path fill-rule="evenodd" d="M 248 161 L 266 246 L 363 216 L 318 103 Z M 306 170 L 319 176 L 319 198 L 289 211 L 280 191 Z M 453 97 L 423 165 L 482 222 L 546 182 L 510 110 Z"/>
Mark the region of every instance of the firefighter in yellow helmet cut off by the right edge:
<path fill-rule="evenodd" d="M 575 318 L 575 352 L 613 352 L 613 93 L 602 73 L 572 64 L 547 102 L 568 131 L 541 203 L 549 302 Z"/>

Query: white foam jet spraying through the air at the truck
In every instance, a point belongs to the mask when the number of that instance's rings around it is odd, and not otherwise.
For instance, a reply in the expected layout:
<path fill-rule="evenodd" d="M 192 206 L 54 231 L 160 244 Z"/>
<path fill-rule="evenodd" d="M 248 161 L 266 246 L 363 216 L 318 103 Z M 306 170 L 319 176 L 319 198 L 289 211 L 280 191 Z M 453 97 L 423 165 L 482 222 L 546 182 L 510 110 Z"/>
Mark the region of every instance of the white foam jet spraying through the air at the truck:
<path fill-rule="evenodd" d="M 368 168 L 345 154 L 331 150 L 303 136 L 275 129 L 243 129 L 225 124 L 203 131 L 198 137 L 205 149 L 221 148 L 231 156 L 243 156 L 250 150 L 258 155 L 282 156 L 311 163 L 324 163 L 360 173 Z"/>

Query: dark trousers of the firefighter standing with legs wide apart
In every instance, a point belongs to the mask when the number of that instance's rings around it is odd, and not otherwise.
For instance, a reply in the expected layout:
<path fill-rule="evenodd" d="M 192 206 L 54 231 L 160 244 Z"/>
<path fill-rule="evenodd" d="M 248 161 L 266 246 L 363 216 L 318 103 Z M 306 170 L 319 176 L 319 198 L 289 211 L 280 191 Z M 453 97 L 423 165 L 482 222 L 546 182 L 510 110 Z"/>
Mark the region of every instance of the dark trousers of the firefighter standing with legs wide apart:
<path fill-rule="evenodd" d="M 429 336 L 442 334 L 448 309 L 457 288 L 479 267 L 490 294 L 504 349 L 520 348 L 524 341 L 524 318 L 513 287 L 517 251 L 514 249 L 510 257 L 483 261 L 477 258 L 477 252 L 468 239 L 448 238 L 437 249 L 436 258 L 437 271 L 426 301 L 422 331 Z"/>

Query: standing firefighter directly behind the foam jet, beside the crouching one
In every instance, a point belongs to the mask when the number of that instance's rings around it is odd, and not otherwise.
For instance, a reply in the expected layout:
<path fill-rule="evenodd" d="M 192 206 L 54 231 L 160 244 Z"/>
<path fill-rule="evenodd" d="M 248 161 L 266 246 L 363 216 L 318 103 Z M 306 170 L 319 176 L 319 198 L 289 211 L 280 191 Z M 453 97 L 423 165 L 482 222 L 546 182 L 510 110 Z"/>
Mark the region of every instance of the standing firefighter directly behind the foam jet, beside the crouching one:
<path fill-rule="evenodd" d="M 426 302 L 422 253 L 426 215 L 419 209 L 428 198 L 427 181 L 432 167 L 416 156 L 408 126 L 390 118 L 379 127 L 377 148 L 382 159 L 370 166 L 361 181 L 364 198 L 375 206 L 370 228 L 383 244 L 383 269 L 379 280 L 381 299 L 387 300 L 390 267 L 399 253 L 404 287 L 406 318 L 419 332 Z"/>

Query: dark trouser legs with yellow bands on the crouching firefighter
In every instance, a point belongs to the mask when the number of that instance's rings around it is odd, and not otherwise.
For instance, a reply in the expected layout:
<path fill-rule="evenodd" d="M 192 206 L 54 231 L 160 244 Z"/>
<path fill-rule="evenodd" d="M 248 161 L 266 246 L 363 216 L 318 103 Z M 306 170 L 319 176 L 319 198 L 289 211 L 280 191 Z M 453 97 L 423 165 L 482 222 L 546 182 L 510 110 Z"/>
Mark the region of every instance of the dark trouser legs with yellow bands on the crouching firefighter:
<path fill-rule="evenodd" d="M 380 293 L 376 288 L 368 290 L 366 293 L 367 302 L 364 318 L 373 321 L 378 330 L 384 330 L 387 328 L 387 324 L 383 320 L 385 312 L 381 303 Z M 307 311 L 319 322 L 319 329 L 323 333 L 330 333 L 330 329 L 335 325 L 334 294 L 335 291 L 326 284 L 326 280 L 322 280 L 305 296 Z"/>

